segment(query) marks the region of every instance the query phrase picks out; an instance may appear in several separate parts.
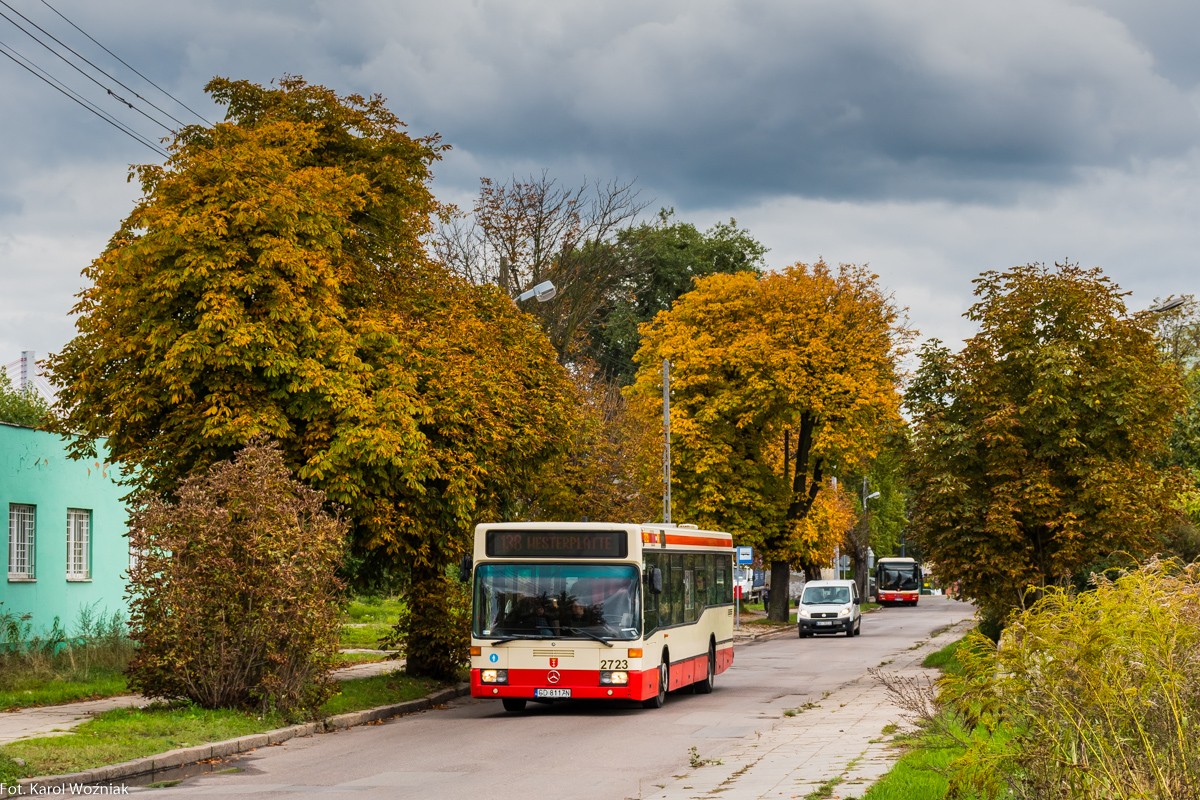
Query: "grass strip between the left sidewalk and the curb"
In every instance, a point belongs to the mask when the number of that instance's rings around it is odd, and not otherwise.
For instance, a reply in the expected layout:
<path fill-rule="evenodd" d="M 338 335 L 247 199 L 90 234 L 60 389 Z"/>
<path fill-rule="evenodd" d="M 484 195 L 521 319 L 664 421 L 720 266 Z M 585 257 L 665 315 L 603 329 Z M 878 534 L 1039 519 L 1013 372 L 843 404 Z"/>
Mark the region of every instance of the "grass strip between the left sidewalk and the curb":
<path fill-rule="evenodd" d="M 439 686 L 436 681 L 403 673 L 348 680 L 341 684 L 341 693 L 322 708 L 322 716 L 416 699 Z M 72 728 L 67 734 L 0 746 L 0 783 L 36 775 L 78 772 L 176 747 L 263 733 L 284 724 L 284 720 L 276 715 L 205 710 L 179 703 L 115 709 Z"/>

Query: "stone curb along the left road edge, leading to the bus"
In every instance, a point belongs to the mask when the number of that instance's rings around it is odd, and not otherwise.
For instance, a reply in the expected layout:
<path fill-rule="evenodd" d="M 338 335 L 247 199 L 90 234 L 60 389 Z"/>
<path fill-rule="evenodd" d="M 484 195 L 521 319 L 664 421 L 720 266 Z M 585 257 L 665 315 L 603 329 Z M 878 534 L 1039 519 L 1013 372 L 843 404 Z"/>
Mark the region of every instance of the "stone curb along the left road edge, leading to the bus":
<path fill-rule="evenodd" d="M 248 753 L 252 750 L 266 747 L 268 745 L 278 745 L 298 736 L 311 736 L 318 733 L 346 730 L 347 728 L 366 724 L 367 722 L 377 722 L 379 720 L 401 716 L 402 714 L 424 711 L 427 708 L 442 705 L 456 697 L 462 697 L 469 693 L 470 684 L 461 682 L 456 686 L 433 692 L 432 694 L 419 697 L 415 700 L 406 700 L 392 705 L 380 705 L 378 708 L 365 709 L 362 711 L 349 711 L 348 714 L 338 714 L 317 722 L 306 722 L 302 724 L 289 726 L 287 728 L 276 728 L 275 730 L 268 730 L 266 733 L 256 733 L 248 736 L 239 736 L 238 739 L 227 739 L 226 741 L 214 741 L 206 745 L 197 745 L 196 747 L 168 750 L 164 753 L 134 758 L 133 760 L 121 762 L 120 764 L 96 766 L 90 770 L 84 770 L 83 772 L 20 778 L 17 781 L 17 786 L 22 787 L 22 789 L 26 787 L 37 787 L 38 789 L 42 789 L 43 787 L 52 788 L 71 784 L 89 786 L 94 783 L 107 783 L 124 778 L 140 777 L 143 775 L 151 775 L 154 772 L 161 772 L 162 770 L 184 766 L 186 764 L 196 764 L 210 758 L 222 758 L 224 756 Z"/>

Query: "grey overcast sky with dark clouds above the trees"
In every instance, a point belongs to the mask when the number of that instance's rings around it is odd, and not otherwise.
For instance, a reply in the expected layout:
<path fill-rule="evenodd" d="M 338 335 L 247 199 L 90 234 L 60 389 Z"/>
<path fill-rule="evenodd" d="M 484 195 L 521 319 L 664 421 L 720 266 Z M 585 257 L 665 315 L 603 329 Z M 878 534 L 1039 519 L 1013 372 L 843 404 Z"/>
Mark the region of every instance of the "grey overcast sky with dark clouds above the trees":
<path fill-rule="evenodd" d="M 774 267 L 869 263 L 955 344 L 984 270 L 1069 258 L 1138 308 L 1198 293 L 1200 4 L 50 2 L 208 119 L 214 76 L 379 92 L 454 146 L 443 199 L 542 169 L 636 178 L 701 227 L 736 217 Z M 0 5 L 28 28 L 13 10 L 193 121 L 42 0 Z M 0 43 L 163 133 L 2 18 Z M 73 335 L 79 271 L 156 156 L 7 58 L 0 142 L 4 365 Z"/>

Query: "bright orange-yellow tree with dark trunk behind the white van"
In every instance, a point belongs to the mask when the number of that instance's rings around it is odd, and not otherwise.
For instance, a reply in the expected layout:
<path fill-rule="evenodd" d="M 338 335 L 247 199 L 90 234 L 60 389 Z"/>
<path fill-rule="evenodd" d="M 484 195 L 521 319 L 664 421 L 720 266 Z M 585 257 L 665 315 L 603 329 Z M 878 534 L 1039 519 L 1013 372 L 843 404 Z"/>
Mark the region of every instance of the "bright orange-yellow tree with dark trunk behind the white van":
<path fill-rule="evenodd" d="M 643 333 L 632 393 L 653 404 L 671 361 L 679 518 L 757 547 L 775 587 L 827 561 L 853 523 L 829 479 L 899 422 L 908 336 L 876 276 L 824 263 L 713 275 Z M 773 593 L 770 618 L 786 620 L 787 602 Z"/>

